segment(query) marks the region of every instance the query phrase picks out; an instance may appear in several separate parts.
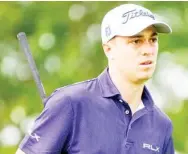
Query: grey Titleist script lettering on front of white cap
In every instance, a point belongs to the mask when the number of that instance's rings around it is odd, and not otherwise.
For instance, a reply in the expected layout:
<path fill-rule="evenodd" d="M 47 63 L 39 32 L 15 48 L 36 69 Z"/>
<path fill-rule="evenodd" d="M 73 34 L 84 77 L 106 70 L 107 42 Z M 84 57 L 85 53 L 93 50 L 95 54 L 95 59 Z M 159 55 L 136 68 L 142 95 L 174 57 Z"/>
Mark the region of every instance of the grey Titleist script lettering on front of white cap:
<path fill-rule="evenodd" d="M 140 16 L 148 16 L 148 17 L 152 18 L 153 20 L 155 20 L 155 17 L 148 11 L 134 9 L 134 10 L 125 12 L 122 15 L 122 17 L 123 17 L 122 24 L 126 24 L 129 20 L 140 17 Z"/>

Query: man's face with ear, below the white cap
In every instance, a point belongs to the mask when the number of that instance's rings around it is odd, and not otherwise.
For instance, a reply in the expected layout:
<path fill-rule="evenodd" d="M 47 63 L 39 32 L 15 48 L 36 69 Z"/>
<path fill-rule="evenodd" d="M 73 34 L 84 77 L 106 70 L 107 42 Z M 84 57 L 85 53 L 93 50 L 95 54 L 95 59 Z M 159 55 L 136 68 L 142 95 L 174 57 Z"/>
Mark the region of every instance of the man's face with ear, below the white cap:
<path fill-rule="evenodd" d="M 109 68 L 115 69 L 130 82 L 143 83 L 154 73 L 158 37 L 156 29 L 150 26 L 135 36 L 116 36 L 103 49 Z"/>

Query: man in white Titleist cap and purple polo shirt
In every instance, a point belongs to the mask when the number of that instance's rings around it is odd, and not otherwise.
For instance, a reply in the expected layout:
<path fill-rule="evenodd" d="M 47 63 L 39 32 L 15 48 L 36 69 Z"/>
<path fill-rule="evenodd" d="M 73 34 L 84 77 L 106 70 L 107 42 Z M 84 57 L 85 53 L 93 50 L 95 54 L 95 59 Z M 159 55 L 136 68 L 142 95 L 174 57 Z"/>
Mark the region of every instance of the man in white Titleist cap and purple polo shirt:
<path fill-rule="evenodd" d="M 158 33 L 171 28 L 146 8 L 109 11 L 101 26 L 108 67 L 97 78 L 57 89 L 17 154 L 174 154 L 172 123 L 145 87 L 156 66 Z"/>

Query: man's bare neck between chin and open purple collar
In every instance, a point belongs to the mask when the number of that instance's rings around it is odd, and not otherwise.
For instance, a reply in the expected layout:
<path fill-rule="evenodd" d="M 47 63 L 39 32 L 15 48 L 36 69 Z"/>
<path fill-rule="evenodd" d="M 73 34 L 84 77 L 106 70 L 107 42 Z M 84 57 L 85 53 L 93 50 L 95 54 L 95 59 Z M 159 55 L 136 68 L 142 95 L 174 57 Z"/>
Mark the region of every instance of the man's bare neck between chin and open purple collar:
<path fill-rule="evenodd" d="M 129 104 L 132 112 L 134 113 L 141 102 L 144 83 L 138 84 L 131 82 L 125 76 L 121 75 L 121 73 L 110 68 L 109 74 L 114 85 L 119 90 L 122 98 Z"/>

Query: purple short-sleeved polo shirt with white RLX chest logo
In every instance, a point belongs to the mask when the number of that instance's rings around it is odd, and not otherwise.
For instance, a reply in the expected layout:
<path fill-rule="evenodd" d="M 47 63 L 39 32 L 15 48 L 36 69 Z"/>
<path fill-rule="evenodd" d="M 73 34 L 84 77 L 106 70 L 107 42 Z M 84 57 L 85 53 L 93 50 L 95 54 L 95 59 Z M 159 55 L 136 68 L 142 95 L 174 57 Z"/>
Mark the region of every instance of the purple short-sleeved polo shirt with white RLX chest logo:
<path fill-rule="evenodd" d="M 145 107 L 132 116 L 106 68 L 97 78 L 54 91 L 20 149 L 26 154 L 174 154 L 170 119 L 146 87 L 142 101 Z"/>

